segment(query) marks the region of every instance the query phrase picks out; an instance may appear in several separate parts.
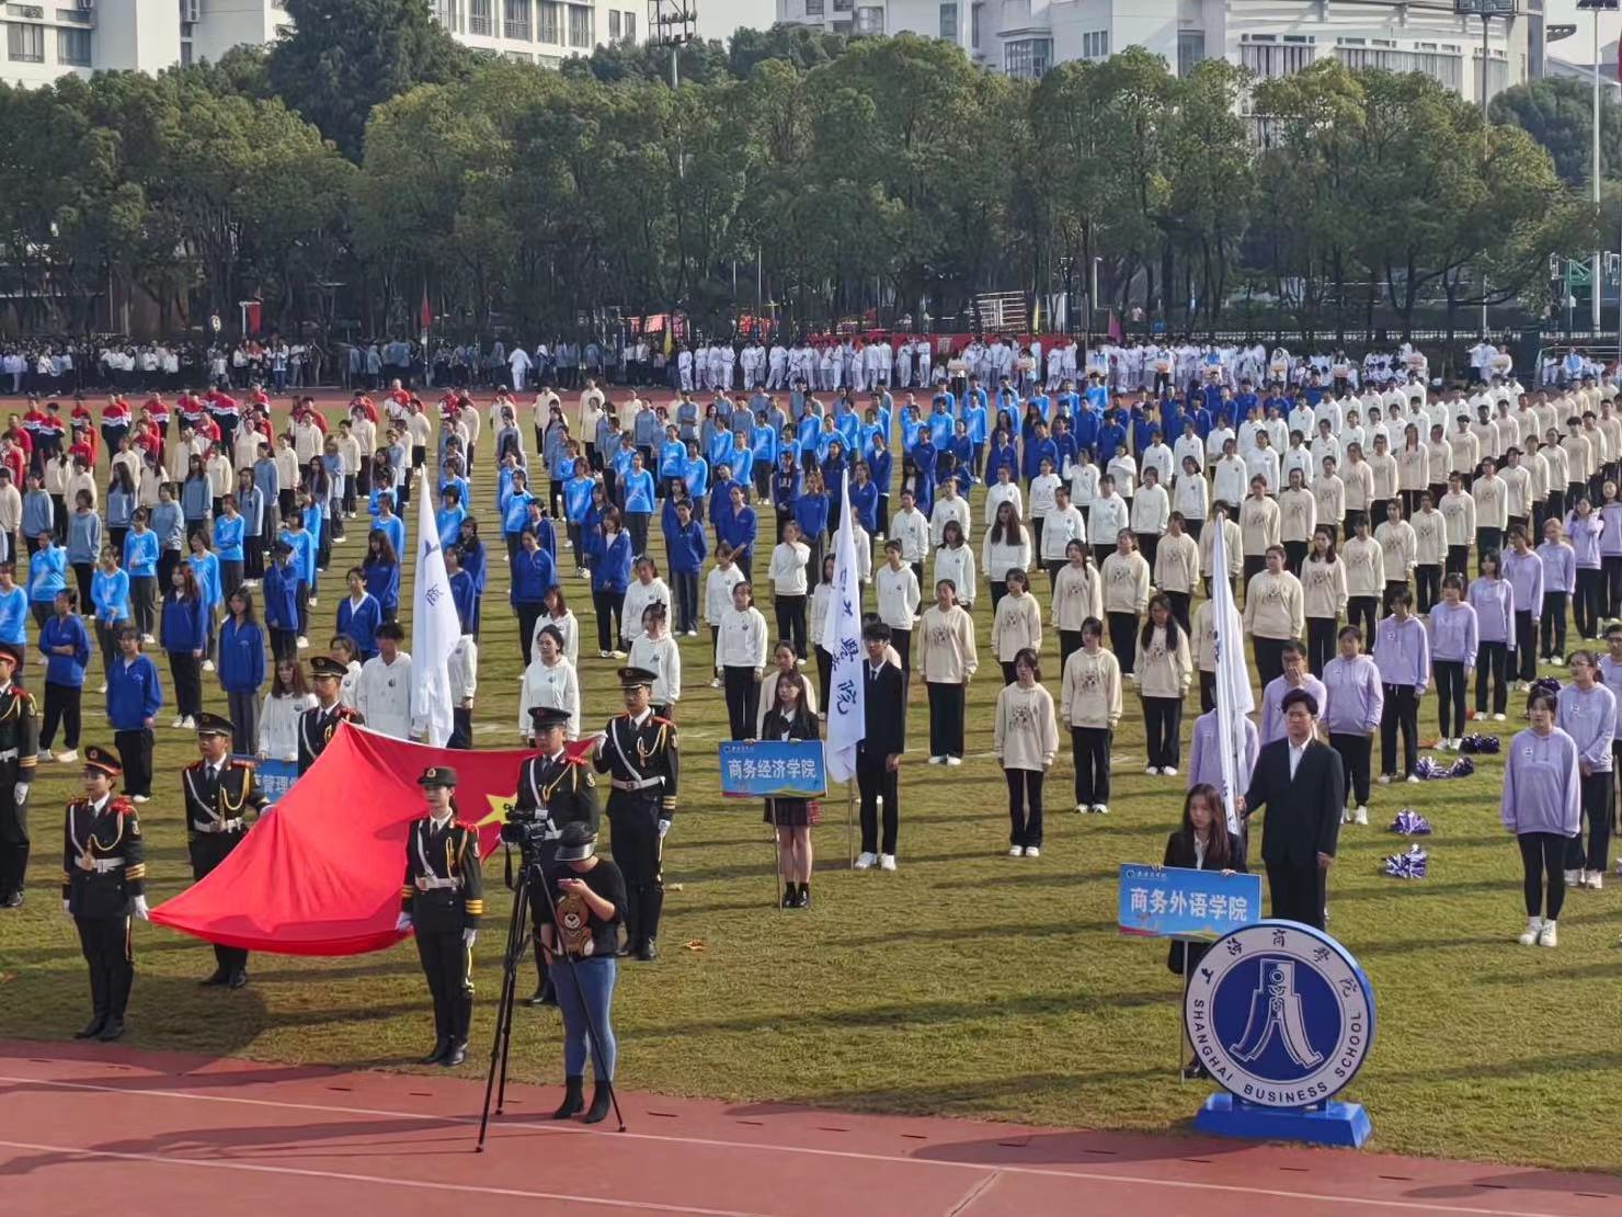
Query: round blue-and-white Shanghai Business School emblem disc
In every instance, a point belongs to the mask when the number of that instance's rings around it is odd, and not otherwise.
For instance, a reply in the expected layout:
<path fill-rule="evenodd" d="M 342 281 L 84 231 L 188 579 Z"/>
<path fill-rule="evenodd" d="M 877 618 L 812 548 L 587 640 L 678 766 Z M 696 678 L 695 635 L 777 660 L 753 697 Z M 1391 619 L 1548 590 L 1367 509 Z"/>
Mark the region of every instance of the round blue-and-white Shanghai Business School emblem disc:
<path fill-rule="evenodd" d="M 1322 930 L 1257 922 L 1212 943 L 1189 977 L 1182 1026 L 1236 1099 L 1307 1107 L 1338 1094 L 1374 1043 L 1374 990 Z"/>

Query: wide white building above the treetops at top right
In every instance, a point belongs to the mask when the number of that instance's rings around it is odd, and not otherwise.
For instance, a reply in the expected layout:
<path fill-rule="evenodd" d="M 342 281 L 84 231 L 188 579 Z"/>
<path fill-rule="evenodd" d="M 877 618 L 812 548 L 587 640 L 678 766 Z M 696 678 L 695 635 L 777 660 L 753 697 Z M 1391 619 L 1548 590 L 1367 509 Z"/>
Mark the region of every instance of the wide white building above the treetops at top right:
<path fill-rule="evenodd" d="M 1544 0 L 1518 6 L 1487 28 L 1489 97 L 1543 73 Z M 777 19 L 942 37 L 1011 76 L 1142 45 L 1179 75 L 1218 57 L 1264 78 L 1340 58 L 1481 99 L 1481 21 L 1455 16 L 1453 0 L 777 0 Z"/>

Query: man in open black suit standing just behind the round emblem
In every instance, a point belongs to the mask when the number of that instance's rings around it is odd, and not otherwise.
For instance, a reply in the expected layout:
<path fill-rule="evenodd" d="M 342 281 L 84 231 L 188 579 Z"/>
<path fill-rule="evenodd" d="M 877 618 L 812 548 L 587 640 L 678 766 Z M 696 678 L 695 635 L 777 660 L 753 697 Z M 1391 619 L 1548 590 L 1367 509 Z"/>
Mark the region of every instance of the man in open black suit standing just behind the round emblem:
<path fill-rule="evenodd" d="M 1285 738 L 1262 748 L 1242 815 L 1268 808 L 1262 836 L 1273 917 L 1324 928 L 1324 889 L 1335 860 L 1346 771 L 1317 738 L 1319 704 L 1306 690 L 1285 695 Z"/>

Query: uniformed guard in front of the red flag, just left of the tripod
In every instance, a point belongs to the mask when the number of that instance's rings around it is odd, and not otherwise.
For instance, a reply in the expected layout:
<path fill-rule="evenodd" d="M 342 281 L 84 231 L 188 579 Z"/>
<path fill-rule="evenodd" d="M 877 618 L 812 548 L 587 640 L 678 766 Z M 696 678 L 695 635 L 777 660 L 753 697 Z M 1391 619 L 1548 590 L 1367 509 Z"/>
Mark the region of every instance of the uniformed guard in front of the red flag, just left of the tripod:
<path fill-rule="evenodd" d="M 433 995 L 433 1051 L 422 1064 L 451 1068 L 467 1060 L 474 1014 L 474 940 L 485 915 L 478 871 L 478 829 L 456 823 L 456 769 L 431 764 L 417 779 L 428 815 L 406 837 L 406 886 L 396 930 L 417 931 Z"/>

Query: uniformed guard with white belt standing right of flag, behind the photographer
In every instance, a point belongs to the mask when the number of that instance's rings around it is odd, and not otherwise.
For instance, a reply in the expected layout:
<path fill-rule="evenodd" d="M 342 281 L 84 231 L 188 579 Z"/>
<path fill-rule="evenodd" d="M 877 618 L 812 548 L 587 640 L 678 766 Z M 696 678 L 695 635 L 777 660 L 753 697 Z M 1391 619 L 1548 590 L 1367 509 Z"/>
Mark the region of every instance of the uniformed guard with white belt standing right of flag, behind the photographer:
<path fill-rule="evenodd" d="M 597 737 L 592 761 L 610 774 L 608 823 L 613 860 L 624 875 L 626 954 L 655 959 L 659 914 L 665 907 L 660 860 L 676 813 L 676 724 L 654 714 L 654 673 L 620 669 L 624 714 Z"/>

